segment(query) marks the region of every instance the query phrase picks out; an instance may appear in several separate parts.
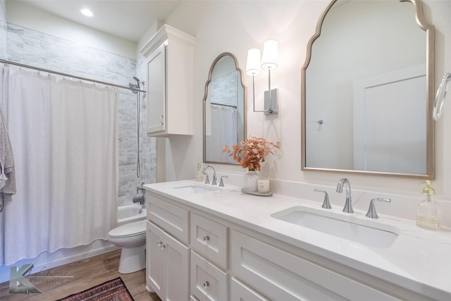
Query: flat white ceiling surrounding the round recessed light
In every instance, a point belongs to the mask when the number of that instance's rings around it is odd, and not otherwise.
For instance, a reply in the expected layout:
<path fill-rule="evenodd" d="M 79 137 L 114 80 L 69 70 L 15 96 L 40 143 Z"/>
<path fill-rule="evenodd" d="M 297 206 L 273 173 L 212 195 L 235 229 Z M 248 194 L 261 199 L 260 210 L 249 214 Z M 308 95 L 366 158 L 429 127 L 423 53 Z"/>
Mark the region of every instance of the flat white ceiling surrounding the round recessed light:
<path fill-rule="evenodd" d="M 137 42 L 156 20 L 164 22 L 181 2 L 181 0 L 21 1 L 61 18 L 131 42 Z M 89 8 L 94 16 L 83 16 L 79 11 L 80 7 Z"/>

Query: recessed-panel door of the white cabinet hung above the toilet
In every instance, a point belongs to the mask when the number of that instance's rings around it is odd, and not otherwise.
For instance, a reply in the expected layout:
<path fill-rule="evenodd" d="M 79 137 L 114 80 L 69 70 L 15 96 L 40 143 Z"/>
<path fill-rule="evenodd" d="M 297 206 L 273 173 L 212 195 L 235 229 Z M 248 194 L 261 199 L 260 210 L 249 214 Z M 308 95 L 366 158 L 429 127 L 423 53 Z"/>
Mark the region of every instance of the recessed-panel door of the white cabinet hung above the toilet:
<path fill-rule="evenodd" d="M 166 130 L 166 46 L 147 58 L 147 133 Z"/>

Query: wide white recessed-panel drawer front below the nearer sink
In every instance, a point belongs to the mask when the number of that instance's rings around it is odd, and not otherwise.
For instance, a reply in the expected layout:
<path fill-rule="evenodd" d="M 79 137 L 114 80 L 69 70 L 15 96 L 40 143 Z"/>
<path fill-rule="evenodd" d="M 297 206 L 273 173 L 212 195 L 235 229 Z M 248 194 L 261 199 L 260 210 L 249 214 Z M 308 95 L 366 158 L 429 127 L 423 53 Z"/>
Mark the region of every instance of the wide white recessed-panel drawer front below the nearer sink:
<path fill-rule="evenodd" d="M 271 300 L 397 300 L 238 231 L 230 245 L 233 274 Z"/>

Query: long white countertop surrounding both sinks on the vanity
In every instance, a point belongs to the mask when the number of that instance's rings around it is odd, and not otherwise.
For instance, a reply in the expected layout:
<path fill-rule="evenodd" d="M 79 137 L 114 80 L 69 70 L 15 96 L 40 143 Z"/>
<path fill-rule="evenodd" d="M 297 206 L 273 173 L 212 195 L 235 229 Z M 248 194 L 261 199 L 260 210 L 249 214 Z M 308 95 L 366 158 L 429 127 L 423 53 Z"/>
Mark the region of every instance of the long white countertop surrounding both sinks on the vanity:
<path fill-rule="evenodd" d="M 451 300 L 451 231 L 428 231 L 416 227 L 414 221 L 379 214 L 376 222 L 395 226 L 400 233 L 388 248 L 368 247 L 271 216 L 302 206 L 368 220 L 366 211 L 354 209 L 354 214 L 346 214 L 336 206 L 322 209 L 321 203 L 307 199 L 246 195 L 241 188 L 230 186 L 202 193 L 174 189 L 187 185 L 211 187 L 183 180 L 144 188 L 436 300 Z"/>

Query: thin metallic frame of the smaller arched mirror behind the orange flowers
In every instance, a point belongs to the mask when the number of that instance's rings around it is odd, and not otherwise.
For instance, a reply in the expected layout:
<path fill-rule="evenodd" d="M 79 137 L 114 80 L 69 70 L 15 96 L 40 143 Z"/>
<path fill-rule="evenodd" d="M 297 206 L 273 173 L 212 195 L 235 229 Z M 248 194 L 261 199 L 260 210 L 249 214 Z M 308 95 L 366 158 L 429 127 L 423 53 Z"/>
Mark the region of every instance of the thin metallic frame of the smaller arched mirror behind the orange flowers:
<path fill-rule="evenodd" d="M 245 94 L 243 97 L 243 137 L 247 137 L 247 87 L 245 85 L 244 82 L 244 74 L 242 73 L 241 68 L 238 66 L 238 61 L 237 58 L 230 52 L 223 52 L 222 54 L 219 54 L 218 56 L 216 56 L 216 59 L 214 59 L 213 63 L 211 63 L 210 66 L 210 70 L 209 70 L 209 78 L 208 80 L 206 80 L 205 82 L 205 88 L 204 88 L 204 99 L 202 100 L 202 140 L 203 140 L 203 162 L 204 163 L 214 163 L 214 164 L 228 164 L 228 165 L 238 165 L 238 163 L 228 163 L 228 162 L 217 162 L 217 161 L 206 161 L 206 124 L 205 124 L 205 111 L 206 111 L 206 98 L 208 97 L 208 93 L 209 93 L 209 84 L 211 82 L 211 75 L 213 73 L 213 69 L 214 66 L 216 66 L 216 63 L 218 63 L 218 61 L 220 59 L 222 59 L 224 56 L 230 56 L 233 61 L 235 62 L 235 70 L 237 70 L 240 75 L 241 75 L 241 80 L 240 80 L 240 84 L 242 85 L 243 88 L 243 93 Z M 222 151 L 222 149 L 221 149 Z"/>

